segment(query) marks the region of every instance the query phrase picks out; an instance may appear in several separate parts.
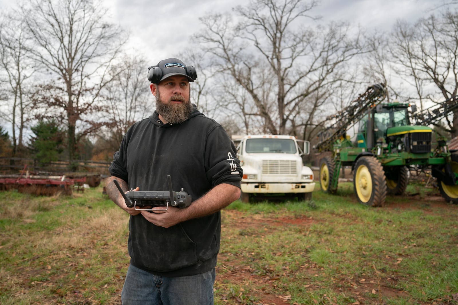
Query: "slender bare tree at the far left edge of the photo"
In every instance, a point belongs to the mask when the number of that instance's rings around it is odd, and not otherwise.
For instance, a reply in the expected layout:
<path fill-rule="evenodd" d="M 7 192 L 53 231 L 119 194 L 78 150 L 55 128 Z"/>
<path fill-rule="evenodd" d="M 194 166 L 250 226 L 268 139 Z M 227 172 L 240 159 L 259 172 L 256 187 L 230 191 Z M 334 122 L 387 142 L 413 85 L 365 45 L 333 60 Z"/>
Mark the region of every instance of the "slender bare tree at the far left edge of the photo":
<path fill-rule="evenodd" d="M 5 78 L 4 92 L 7 92 L 6 112 L 2 112 L 1 117 L 11 123 L 13 156 L 22 152 L 24 147 L 23 134 L 31 104 L 31 86 L 27 80 L 36 72 L 36 66 L 28 57 L 30 45 L 24 28 L 24 23 L 12 15 L 6 15 L 0 21 L 1 77 Z"/>

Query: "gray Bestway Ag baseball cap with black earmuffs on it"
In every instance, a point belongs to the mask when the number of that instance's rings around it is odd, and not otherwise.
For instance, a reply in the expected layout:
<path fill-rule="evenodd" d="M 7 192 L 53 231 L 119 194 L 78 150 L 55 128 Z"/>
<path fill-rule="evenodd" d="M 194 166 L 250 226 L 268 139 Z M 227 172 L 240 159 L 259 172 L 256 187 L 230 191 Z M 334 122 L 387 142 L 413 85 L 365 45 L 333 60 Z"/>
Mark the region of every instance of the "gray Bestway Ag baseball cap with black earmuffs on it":
<path fill-rule="evenodd" d="M 196 69 L 193 66 L 186 66 L 176 58 L 161 60 L 156 66 L 148 68 L 148 80 L 153 84 L 158 84 L 173 75 L 184 75 L 190 82 L 194 82 L 197 78 Z"/>

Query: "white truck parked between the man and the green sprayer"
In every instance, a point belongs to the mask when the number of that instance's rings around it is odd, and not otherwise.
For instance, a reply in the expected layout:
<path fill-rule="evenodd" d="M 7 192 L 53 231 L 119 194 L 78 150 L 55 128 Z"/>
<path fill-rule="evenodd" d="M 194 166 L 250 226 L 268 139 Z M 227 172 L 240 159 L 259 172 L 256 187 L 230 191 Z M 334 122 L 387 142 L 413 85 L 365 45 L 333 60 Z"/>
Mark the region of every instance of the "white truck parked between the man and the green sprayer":
<path fill-rule="evenodd" d="M 301 155 L 310 153 L 310 143 L 301 148 L 290 135 L 232 136 L 243 169 L 240 200 L 281 195 L 311 200 L 315 188 L 313 171 L 304 166 Z"/>

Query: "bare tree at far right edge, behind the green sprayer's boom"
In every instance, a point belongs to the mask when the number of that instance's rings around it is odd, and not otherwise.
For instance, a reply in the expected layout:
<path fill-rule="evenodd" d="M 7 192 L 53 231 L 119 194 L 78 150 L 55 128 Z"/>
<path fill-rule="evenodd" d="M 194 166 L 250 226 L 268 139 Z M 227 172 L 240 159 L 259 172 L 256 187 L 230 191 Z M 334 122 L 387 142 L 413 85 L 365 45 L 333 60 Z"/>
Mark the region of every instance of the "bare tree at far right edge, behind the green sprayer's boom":
<path fill-rule="evenodd" d="M 398 64 L 415 84 L 416 97 L 442 102 L 458 93 L 458 11 L 431 15 L 414 25 L 394 28 Z M 429 84 L 430 86 L 427 86 Z M 431 86 L 434 84 L 434 86 Z M 448 118 L 448 132 L 458 135 L 458 112 Z"/>

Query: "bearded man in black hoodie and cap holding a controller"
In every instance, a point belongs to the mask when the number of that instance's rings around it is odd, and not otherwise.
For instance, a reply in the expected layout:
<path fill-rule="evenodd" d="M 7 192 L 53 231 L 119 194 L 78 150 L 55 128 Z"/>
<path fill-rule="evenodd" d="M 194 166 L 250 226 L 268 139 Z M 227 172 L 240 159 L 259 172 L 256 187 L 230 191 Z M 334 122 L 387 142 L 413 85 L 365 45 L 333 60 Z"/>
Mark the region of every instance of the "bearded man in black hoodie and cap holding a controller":
<path fill-rule="evenodd" d="M 220 210 L 239 198 L 242 170 L 224 128 L 191 104 L 196 78 L 175 58 L 148 69 L 156 111 L 129 128 L 109 167 L 107 193 L 131 214 L 125 305 L 213 304 Z M 168 191 L 167 175 L 174 191 L 191 196 L 189 207 L 128 208 L 113 183 L 125 192 Z"/>

